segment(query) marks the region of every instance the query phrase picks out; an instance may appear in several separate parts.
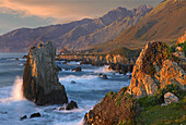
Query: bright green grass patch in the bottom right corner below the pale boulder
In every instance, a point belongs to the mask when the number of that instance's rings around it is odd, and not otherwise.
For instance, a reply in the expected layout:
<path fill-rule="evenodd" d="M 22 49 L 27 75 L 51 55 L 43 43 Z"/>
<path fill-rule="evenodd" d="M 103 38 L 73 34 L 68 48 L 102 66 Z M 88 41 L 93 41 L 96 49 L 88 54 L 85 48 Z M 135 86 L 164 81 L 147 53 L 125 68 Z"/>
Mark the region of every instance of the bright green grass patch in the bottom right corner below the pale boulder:
<path fill-rule="evenodd" d="M 138 125 L 181 125 L 186 123 L 186 97 L 166 107 L 147 107 L 138 115 Z"/>

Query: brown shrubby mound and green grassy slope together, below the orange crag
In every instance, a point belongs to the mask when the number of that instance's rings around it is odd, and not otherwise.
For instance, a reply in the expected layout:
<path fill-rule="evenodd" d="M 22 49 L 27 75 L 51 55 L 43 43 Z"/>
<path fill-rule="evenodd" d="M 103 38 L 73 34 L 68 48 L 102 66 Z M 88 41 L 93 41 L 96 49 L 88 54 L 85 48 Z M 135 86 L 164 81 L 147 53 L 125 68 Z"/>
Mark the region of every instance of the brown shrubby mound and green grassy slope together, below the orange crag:
<path fill-rule="evenodd" d="M 124 87 L 108 92 L 86 115 L 89 125 L 163 125 L 186 123 L 186 92 L 176 84 L 166 85 L 153 96 L 136 100 Z M 179 102 L 162 107 L 163 96 L 173 92 Z"/>

